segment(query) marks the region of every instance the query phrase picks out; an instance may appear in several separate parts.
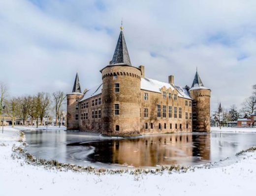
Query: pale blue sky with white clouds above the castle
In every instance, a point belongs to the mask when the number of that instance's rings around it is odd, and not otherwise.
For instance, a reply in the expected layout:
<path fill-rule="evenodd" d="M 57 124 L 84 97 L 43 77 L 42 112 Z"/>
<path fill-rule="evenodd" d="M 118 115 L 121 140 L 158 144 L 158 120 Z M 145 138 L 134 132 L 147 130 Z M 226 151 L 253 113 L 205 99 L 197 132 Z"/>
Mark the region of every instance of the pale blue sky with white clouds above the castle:
<path fill-rule="evenodd" d="M 0 0 L 0 81 L 9 94 L 101 82 L 121 19 L 133 66 L 191 86 L 196 67 L 219 101 L 241 106 L 256 84 L 256 0 Z"/>

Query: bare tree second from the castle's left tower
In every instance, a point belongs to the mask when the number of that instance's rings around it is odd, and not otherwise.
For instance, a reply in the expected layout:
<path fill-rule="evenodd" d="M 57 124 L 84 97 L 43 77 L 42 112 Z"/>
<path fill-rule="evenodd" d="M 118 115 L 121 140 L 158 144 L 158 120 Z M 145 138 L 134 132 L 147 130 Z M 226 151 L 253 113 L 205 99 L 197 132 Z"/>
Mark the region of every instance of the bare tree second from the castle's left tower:
<path fill-rule="evenodd" d="M 48 93 L 38 93 L 38 111 L 39 111 L 39 118 L 40 118 L 40 125 L 43 124 L 43 118 L 46 115 L 47 111 L 50 108 L 50 95 Z"/>

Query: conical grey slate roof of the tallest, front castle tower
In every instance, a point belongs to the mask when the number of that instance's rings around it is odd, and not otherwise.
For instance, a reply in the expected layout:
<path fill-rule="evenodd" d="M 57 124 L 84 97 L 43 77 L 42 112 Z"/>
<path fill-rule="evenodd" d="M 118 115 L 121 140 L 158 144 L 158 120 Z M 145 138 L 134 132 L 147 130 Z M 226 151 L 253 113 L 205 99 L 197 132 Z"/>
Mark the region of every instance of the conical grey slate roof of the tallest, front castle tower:
<path fill-rule="evenodd" d="M 115 64 L 125 64 L 131 66 L 123 30 L 120 32 L 115 53 L 113 55 L 112 61 L 110 61 L 110 65 Z"/>

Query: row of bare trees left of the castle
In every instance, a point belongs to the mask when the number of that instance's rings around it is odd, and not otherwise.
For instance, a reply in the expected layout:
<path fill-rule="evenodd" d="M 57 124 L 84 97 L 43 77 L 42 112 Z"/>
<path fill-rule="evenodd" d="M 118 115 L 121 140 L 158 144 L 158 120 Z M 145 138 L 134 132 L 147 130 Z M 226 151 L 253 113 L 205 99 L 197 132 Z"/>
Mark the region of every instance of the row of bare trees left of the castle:
<path fill-rule="evenodd" d="M 39 92 L 33 96 L 9 97 L 7 87 L 0 83 L 0 118 L 2 115 L 11 117 L 12 126 L 17 119 L 23 124 L 30 119 L 36 122 L 36 126 L 42 125 L 45 117 L 55 116 L 56 125 L 61 125 L 63 118 L 65 94 L 62 91 L 54 92 L 52 95 Z M 2 106 L 5 106 L 3 109 Z"/>

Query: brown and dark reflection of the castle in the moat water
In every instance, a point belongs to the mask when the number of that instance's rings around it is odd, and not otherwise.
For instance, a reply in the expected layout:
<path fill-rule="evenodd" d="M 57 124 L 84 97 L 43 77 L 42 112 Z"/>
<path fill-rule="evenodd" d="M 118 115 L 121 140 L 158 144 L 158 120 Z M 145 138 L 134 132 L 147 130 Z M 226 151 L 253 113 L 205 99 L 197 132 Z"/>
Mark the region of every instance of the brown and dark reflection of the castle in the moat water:
<path fill-rule="evenodd" d="M 210 160 L 210 134 L 153 135 L 136 139 L 86 143 L 95 148 L 88 161 L 134 167 L 182 164 Z"/>

